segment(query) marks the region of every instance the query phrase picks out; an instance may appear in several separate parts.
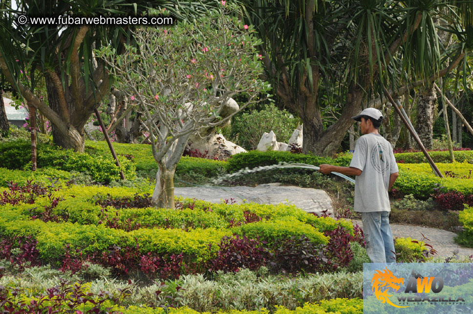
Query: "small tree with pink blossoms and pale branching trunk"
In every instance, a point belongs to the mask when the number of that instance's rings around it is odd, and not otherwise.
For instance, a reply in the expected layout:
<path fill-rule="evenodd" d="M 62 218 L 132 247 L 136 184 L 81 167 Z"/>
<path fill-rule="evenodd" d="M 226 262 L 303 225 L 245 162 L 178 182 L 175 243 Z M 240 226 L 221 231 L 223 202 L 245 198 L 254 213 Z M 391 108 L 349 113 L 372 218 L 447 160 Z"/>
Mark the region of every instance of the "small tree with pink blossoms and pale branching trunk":
<path fill-rule="evenodd" d="M 233 95 L 246 96 L 241 109 L 269 90 L 259 79 L 260 42 L 251 26 L 233 17 L 235 9 L 221 1 L 199 20 L 138 29 L 137 45 L 127 46 L 125 54 L 110 47 L 98 52 L 151 133 L 159 167 L 153 202 L 159 207 L 174 208 L 174 171 L 189 137 L 230 119 L 219 114 Z"/>

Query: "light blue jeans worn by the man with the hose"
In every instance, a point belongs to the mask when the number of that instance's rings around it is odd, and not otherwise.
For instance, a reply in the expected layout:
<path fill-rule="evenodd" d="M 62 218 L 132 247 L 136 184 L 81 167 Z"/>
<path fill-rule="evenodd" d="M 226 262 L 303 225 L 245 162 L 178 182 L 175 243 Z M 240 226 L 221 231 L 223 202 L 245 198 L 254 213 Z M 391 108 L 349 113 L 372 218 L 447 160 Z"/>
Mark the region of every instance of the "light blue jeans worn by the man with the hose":
<path fill-rule="evenodd" d="M 371 263 L 395 263 L 394 240 L 389 226 L 389 211 L 362 212 L 366 252 Z"/>

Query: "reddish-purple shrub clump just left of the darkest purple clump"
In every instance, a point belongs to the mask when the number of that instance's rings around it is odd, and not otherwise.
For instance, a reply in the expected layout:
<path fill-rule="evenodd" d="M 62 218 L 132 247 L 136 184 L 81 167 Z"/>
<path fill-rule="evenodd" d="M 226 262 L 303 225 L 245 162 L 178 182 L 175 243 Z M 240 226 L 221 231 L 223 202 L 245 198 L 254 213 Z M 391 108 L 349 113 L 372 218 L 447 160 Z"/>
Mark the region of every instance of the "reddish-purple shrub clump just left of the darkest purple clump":
<path fill-rule="evenodd" d="M 210 261 L 209 271 L 238 272 L 240 268 L 258 269 L 271 255 L 261 244 L 266 244 L 266 242 L 238 235 L 223 237 L 220 250 Z"/>

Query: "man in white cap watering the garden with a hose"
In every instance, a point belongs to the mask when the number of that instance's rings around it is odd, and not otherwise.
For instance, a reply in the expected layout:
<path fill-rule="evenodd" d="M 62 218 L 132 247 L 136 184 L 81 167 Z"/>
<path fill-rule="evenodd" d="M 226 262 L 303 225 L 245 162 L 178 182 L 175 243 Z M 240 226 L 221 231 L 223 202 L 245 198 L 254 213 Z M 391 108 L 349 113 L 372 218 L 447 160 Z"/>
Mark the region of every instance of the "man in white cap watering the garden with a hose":
<path fill-rule="evenodd" d="M 391 144 L 378 132 L 383 115 L 378 109 L 366 108 L 352 119 L 361 122 L 364 135 L 356 141 L 350 167 L 323 164 L 319 171 L 356 176 L 354 209 L 361 212 L 368 256 L 372 263 L 394 263 L 396 255 L 389 227 L 391 207 L 387 191 L 399 172 Z"/>

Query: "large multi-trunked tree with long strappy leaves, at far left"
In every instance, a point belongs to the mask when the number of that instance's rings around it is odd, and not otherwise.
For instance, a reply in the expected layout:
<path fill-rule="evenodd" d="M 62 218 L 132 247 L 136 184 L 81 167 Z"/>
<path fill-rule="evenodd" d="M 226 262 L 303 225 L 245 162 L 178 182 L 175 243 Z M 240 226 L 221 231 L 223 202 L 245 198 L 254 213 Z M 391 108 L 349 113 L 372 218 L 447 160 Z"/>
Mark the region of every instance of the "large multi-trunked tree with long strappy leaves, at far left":
<path fill-rule="evenodd" d="M 182 2 L 182 3 L 181 3 Z M 214 5 L 213 2 L 209 2 Z M 93 46 L 112 46 L 123 52 L 123 43 L 133 42 L 133 25 L 60 25 L 58 21 L 22 24 L 22 17 L 141 17 L 149 7 L 167 8 L 174 17 L 181 12 L 202 14 L 208 4 L 188 1 L 151 0 L 17 0 L 1 2 L 0 66 L 8 82 L 51 123 L 54 142 L 64 148 L 84 151 L 84 126 L 94 108 L 106 99 L 110 75 L 103 64 L 93 66 Z M 24 73 L 29 69 L 29 73 Z M 49 104 L 35 97 L 35 84 L 43 76 Z"/>

